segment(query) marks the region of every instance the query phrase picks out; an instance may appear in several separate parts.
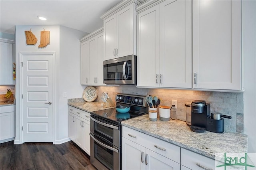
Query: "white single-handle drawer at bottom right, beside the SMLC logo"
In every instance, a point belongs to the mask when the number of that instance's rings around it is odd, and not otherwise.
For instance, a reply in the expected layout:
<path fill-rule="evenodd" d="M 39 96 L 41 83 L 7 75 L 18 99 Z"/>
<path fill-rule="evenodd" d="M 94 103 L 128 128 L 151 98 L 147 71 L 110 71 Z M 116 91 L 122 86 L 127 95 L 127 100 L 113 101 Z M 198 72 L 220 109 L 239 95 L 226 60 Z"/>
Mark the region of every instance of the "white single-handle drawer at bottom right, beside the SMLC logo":
<path fill-rule="evenodd" d="M 181 164 L 192 170 L 202 170 L 198 165 L 204 166 L 209 170 L 215 169 L 215 161 L 206 156 L 181 148 Z"/>

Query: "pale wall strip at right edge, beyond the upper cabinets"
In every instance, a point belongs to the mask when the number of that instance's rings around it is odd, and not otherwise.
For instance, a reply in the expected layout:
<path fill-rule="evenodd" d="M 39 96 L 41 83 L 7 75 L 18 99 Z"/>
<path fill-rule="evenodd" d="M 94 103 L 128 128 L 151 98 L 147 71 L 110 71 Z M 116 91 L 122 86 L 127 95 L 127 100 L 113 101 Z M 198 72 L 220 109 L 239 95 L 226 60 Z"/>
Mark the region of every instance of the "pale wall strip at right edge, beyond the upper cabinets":
<path fill-rule="evenodd" d="M 244 134 L 248 152 L 256 152 L 256 1 L 243 0 Z"/>

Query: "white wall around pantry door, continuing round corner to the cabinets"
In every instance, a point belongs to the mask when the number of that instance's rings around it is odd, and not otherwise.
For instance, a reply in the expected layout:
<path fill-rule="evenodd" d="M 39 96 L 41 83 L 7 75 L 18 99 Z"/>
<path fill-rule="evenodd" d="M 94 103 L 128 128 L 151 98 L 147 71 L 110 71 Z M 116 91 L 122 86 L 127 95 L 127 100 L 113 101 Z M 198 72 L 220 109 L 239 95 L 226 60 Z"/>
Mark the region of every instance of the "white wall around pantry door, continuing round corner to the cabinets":
<path fill-rule="evenodd" d="M 30 30 L 38 39 L 36 45 L 27 45 L 25 30 Z M 42 30 L 50 31 L 50 44 L 44 48 L 38 48 L 40 44 L 40 32 Z M 68 140 L 68 109 L 67 99 L 63 99 L 62 93 L 65 91 L 70 94 L 71 97 L 81 97 L 82 89 L 80 82 L 80 67 L 73 67 L 80 65 L 80 42 L 87 33 L 80 32 L 78 30 L 64 28 L 62 26 L 16 26 L 16 138 L 15 144 L 22 143 L 21 131 L 20 131 L 20 52 L 55 52 L 55 96 L 54 96 L 54 142 L 61 143 Z M 72 74 L 71 72 L 74 71 Z M 76 76 L 79 74 L 79 76 Z M 70 80 L 70 81 L 69 81 Z M 70 83 L 74 81 L 74 86 L 70 86 Z M 68 83 L 67 83 L 68 82 Z M 70 97 L 70 96 L 68 96 Z M 64 108 L 64 105 L 66 108 Z"/>

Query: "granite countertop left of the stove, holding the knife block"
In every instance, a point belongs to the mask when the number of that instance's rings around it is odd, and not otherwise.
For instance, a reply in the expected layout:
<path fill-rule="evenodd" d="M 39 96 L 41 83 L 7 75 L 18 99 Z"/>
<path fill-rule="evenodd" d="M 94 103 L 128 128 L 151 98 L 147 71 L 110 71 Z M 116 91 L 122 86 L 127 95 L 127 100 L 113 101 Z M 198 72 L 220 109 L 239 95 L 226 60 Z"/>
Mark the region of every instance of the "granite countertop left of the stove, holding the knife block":
<path fill-rule="evenodd" d="M 68 100 L 68 105 L 76 107 L 76 108 L 81 109 L 86 112 L 95 112 L 95 111 L 115 108 L 115 106 L 114 107 L 104 107 L 101 104 L 102 104 L 102 102 L 86 102 L 80 98 Z"/>

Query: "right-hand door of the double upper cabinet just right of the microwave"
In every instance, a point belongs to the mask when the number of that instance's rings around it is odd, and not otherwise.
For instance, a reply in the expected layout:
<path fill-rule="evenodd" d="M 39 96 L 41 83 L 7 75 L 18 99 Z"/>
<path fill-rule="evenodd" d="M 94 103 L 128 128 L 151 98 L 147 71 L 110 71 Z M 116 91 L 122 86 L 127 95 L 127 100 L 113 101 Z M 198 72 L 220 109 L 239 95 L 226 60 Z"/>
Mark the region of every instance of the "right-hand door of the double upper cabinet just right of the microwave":
<path fill-rule="evenodd" d="M 160 87 L 192 87 L 192 1 L 160 4 Z"/>

